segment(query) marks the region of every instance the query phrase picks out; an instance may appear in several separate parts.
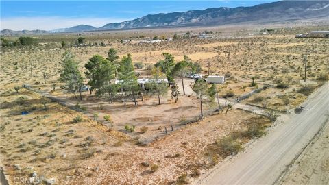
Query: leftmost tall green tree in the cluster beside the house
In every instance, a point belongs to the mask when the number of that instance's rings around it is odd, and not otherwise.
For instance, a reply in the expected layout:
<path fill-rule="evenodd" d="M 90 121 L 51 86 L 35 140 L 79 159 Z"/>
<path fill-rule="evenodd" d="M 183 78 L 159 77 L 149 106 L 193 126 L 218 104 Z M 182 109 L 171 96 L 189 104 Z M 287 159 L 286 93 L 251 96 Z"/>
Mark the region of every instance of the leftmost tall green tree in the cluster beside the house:
<path fill-rule="evenodd" d="M 66 90 L 69 92 L 74 93 L 74 95 L 75 92 L 79 92 L 80 100 L 82 100 L 81 88 L 84 86 L 84 78 L 80 74 L 79 64 L 69 51 L 65 51 L 62 56 L 60 80 L 66 83 Z"/>

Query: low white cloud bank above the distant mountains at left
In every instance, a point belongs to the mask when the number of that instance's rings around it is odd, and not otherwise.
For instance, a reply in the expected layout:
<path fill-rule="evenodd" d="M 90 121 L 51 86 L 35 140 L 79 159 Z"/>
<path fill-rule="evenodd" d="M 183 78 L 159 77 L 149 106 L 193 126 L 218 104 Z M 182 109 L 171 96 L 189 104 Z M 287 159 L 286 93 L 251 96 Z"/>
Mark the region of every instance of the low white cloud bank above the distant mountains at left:
<path fill-rule="evenodd" d="M 42 29 L 52 30 L 66 27 L 73 27 L 75 25 L 92 25 L 101 27 L 107 23 L 116 23 L 130 20 L 130 18 L 93 18 L 93 17 L 60 17 L 60 16 L 45 16 L 45 17 L 14 17 L 1 18 L 1 29 Z"/>

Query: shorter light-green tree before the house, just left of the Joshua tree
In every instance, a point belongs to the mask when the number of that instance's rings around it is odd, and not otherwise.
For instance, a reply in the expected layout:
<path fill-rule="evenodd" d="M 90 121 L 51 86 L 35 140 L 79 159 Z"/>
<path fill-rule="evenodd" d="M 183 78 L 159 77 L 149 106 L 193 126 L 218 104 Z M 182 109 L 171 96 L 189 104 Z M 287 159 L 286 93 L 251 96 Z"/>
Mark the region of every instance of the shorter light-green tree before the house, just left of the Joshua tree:
<path fill-rule="evenodd" d="M 152 78 L 151 82 L 147 84 L 147 88 L 150 93 L 154 93 L 158 96 L 158 104 L 161 104 L 161 97 L 167 95 L 168 85 L 164 83 L 166 75 L 162 73 L 161 69 L 156 67 L 152 69 Z"/>

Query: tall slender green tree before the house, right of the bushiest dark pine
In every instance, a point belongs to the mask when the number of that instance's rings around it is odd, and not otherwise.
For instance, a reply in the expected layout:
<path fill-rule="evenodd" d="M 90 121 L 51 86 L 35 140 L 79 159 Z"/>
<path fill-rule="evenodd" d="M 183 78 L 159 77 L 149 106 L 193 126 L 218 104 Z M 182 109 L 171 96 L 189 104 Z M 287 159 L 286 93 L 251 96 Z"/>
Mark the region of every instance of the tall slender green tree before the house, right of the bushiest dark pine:
<path fill-rule="evenodd" d="M 122 80 L 121 86 L 125 89 L 125 99 L 127 99 L 127 93 L 132 93 L 136 106 L 136 92 L 139 90 L 139 85 L 137 82 L 137 76 L 134 73 L 132 56 L 130 54 L 123 56 L 121 59 L 119 66 L 119 79 Z"/>

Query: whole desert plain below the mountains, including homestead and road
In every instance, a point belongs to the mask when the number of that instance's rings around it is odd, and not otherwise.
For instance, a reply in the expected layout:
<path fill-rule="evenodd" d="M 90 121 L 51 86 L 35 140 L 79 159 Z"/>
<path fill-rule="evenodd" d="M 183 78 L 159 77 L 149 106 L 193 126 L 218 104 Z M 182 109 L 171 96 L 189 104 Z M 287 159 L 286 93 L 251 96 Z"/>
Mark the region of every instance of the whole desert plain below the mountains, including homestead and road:
<path fill-rule="evenodd" d="M 324 17 L 1 31 L 1 184 L 329 184 Z"/>

